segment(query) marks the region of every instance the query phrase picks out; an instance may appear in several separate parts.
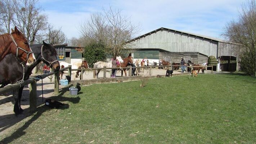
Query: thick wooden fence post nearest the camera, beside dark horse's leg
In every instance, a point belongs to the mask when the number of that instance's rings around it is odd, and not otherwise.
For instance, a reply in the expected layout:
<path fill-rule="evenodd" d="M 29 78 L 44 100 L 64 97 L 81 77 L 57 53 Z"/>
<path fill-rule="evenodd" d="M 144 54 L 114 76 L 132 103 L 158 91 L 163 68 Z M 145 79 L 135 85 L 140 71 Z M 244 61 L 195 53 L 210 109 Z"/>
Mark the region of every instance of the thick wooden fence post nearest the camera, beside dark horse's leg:
<path fill-rule="evenodd" d="M 30 112 L 36 111 L 36 81 L 32 82 L 29 87 L 29 109 Z"/>

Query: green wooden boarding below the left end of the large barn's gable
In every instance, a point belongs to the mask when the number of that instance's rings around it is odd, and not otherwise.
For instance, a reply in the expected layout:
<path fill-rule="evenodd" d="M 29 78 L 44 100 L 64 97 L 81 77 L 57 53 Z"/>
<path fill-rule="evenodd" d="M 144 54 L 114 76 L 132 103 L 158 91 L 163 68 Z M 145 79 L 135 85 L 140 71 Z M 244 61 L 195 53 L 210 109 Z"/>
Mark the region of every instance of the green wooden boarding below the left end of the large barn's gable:
<path fill-rule="evenodd" d="M 134 51 L 134 59 L 159 59 L 159 50 L 137 50 Z"/>

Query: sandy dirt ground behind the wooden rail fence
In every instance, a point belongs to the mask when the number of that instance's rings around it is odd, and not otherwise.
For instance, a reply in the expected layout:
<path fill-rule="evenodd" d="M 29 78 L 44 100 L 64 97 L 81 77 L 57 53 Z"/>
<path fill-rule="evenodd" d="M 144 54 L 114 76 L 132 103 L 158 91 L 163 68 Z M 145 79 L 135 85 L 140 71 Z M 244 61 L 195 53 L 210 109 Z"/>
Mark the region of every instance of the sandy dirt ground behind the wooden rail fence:
<path fill-rule="evenodd" d="M 147 70 L 144 71 L 147 73 Z M 205 71 L 205 73 L 210 73 L 211 71 Z M 180 69 L 179 71 L 174 71 L 173 75 L 181 73 Z M 201 72 L 200 72 L 201 73 Z M 166 70 L 165 69 L 153 69 L 152 75 L 165 75 Z M 66 73 L 64 73 L 63 78 L 65 78 Z M 110 77 L 110 72 L 107 72 L 107 77 Z M 128 75 L 128 71 L 127 71 Z M 117 71 L 117 76 L 121 76 L 121 71 Z M 84 79 L 93 79 L 93 71 L 86 71 L 83 74 Z M 100 71 L 99 78 L 103 77 L 103 71 Z M 72 78 L 73 79 L 73 78 Z M 78 78 L 77 78 L 78 79 Z M 51 97 L 51 96 L 57 96 L 54 94 L 54 83 L 50 82 L 49 78 L 43 79 L 43 94 L 44 99 L 42 100 L 42 84 L 41 80 L 37 82 L 37 106 L 43 105 L 45 102 L 45 99 Z M 59 90 L 61 91 L 65 86 L 60 85 Z M 30 116 L 29 113 L 29 88 L 24 87 L 23 90 L 23 96 L 21 99 L 21 107 L 24 109 L 24 116 L 22 117 L 16 117 L 13 112 L 13 104 L 12 104 L 12 93 L 10 93 L 9 96 L 3 96 L 0 95 L 0 137 L 5 134 L 6 132 L 13 129 L 13 126 L 25 119 L 26 117 Z"/>

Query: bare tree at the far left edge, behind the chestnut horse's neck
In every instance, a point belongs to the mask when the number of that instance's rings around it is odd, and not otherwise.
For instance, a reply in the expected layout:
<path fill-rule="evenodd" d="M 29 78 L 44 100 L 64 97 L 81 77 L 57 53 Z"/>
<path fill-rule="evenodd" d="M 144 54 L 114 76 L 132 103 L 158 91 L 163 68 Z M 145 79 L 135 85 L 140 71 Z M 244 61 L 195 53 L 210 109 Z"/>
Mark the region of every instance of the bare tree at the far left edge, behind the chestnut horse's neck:
<path fill-rule="evenodd" d="M 7 33 L 10 33 L 11 23 L 14 15 L 15 0 L 1 0 L 0 1 L 0 25 L 4 27 Z M 3 28 L 2 28 L 3 32 Z"/>

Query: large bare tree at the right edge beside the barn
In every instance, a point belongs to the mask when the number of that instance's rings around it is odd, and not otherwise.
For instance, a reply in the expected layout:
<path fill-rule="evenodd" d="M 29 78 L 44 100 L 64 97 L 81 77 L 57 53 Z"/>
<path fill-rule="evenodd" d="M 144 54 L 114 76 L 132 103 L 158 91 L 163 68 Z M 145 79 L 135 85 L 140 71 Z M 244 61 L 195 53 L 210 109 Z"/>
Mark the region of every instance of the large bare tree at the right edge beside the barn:
<path fill-rule="evenodd" d="M 241 44 L 238 49 L 241 71 L 256 77 L 256 0 L 242 5 L 238 20 L 229 22 L 223 36 L 230 42 Z"/>

